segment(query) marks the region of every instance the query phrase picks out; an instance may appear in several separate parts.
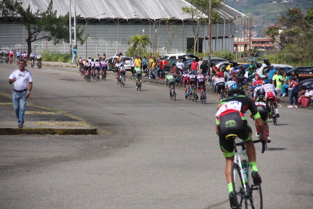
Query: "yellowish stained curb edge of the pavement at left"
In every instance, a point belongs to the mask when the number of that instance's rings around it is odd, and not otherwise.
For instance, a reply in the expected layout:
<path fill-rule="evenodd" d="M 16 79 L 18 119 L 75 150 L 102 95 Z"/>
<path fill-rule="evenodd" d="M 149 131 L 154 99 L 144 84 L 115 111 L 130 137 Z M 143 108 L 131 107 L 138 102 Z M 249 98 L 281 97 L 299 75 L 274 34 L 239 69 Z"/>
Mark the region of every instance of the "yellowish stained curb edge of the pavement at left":
<path fill-rule="evenodd" d="M 96 128 L 57 129 L 57 128 L 0 128 L 0 135 L 96 135 Z"/>

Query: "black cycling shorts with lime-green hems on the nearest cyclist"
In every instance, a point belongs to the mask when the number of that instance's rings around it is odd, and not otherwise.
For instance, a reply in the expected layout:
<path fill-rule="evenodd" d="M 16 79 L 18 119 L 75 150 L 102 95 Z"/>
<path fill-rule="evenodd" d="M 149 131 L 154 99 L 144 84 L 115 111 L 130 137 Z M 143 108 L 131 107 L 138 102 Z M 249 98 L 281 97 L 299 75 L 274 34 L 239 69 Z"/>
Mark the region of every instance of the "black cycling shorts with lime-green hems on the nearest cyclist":
<path fill-rule="evenodd" d="M 236 134 L 244 141 L 251 140 L 252 129 L 248 124 L 247 119 L 239 111 L 231 112 L 219 117 L 219 145 L 225 157 L 232 157 L 234 155 L 232 140 L 226 140 L 226 136 L 229 134 Z"/>

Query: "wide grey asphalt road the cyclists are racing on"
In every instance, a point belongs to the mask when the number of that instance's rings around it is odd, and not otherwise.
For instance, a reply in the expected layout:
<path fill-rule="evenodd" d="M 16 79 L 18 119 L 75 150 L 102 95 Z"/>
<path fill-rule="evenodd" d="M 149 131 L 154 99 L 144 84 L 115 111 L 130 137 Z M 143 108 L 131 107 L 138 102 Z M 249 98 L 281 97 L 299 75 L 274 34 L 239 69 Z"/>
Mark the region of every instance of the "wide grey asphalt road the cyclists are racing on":
<path fill-rule="evenodd" d="M 1 92 L 11 93 L 16 66 L 0 65 Z M 1 135 L 0 208 L 229 208 L 217 95 L 204 105 L 177 89 L 172 101 L 161 85 L 143 83 L 139 92 L 134 81 L 121 88 L 113 77 L 87 83 L 74 68 L 27 69 L 28 102 L 111 134 Z M 261 154 L 256 145 L 264 208 L 313 207 L 312 113 L 280 108 L 269 148 Z"/>

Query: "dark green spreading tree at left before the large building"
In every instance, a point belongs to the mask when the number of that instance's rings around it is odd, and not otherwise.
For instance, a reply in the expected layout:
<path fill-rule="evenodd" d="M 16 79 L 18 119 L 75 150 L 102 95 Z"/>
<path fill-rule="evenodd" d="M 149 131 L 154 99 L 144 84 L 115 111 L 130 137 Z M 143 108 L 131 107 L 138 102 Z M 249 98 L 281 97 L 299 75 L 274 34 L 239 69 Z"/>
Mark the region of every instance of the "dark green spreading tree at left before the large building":
<path fill-rule="evenodd" d="M 47 10 L 41 13 L 39 10 L 36 12 L 31 11 L 30 5 L 24 9 L 23 3 L 19 2 L 19 0 L 3 0 L 0 4 L 2 17 L 20 19 L 20 23 L 25 26 L 28 32 L 26 39 L 28 58 L 34 41 L 54 39 L 54 43 L 58 43 L 61 40 L 69 43 L 69 13 L 65 16 L 60 15 L 57 17 L 57 11 L 52 10 L 52 5 L 53 1 L 51 0 Z M 79 31 L 79 27 L 77 31 Z M 47 33 L 41 35 L 42 32 Z M 84 28 L 77 33 L 77 40 L 81 43 L 84 43 L 86 39 L 82 35 L 83 32 Z"/>

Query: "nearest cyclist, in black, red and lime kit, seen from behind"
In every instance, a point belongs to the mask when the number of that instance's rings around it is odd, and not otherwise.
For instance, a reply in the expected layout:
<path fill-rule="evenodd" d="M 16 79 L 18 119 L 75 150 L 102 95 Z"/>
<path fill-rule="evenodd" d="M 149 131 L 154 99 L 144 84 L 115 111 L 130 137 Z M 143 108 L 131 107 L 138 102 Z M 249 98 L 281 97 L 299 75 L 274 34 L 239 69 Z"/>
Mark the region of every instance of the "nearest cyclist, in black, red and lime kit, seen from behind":
<path fill-rule="evenodd" d="M 244 113 L 250 110 L 254 120 L 259 128 L 260 139 L 267 141 L 265 135 L 264 123 L 261 119 L 260 113 L 254 102 L 245 96 L 244 88 L 238 84 L 233 84 L 228 90 L 228 97 L 221 100 L 218 104 L 218 111 L 216 116 L 216 133 L 219 136 L 219 144 L 226 158 L 225 175 L 229 189 L 229 201 L 232 208 L 236 208 L 236 203 L 233 194 L 233 184 L 231 179 L 231 168 L 233 164 L 234 147 L 231 140 L 226 140 L 229 134 L 238 135 L 244 140 L 246 145 L 247 155 L 250 161 L 251 176 L 254 184 L 262 182 L 258 174 L 256 165 L 256 156 L 254 144 L 251 140 L 252 130 L 244 117 Z"/>

